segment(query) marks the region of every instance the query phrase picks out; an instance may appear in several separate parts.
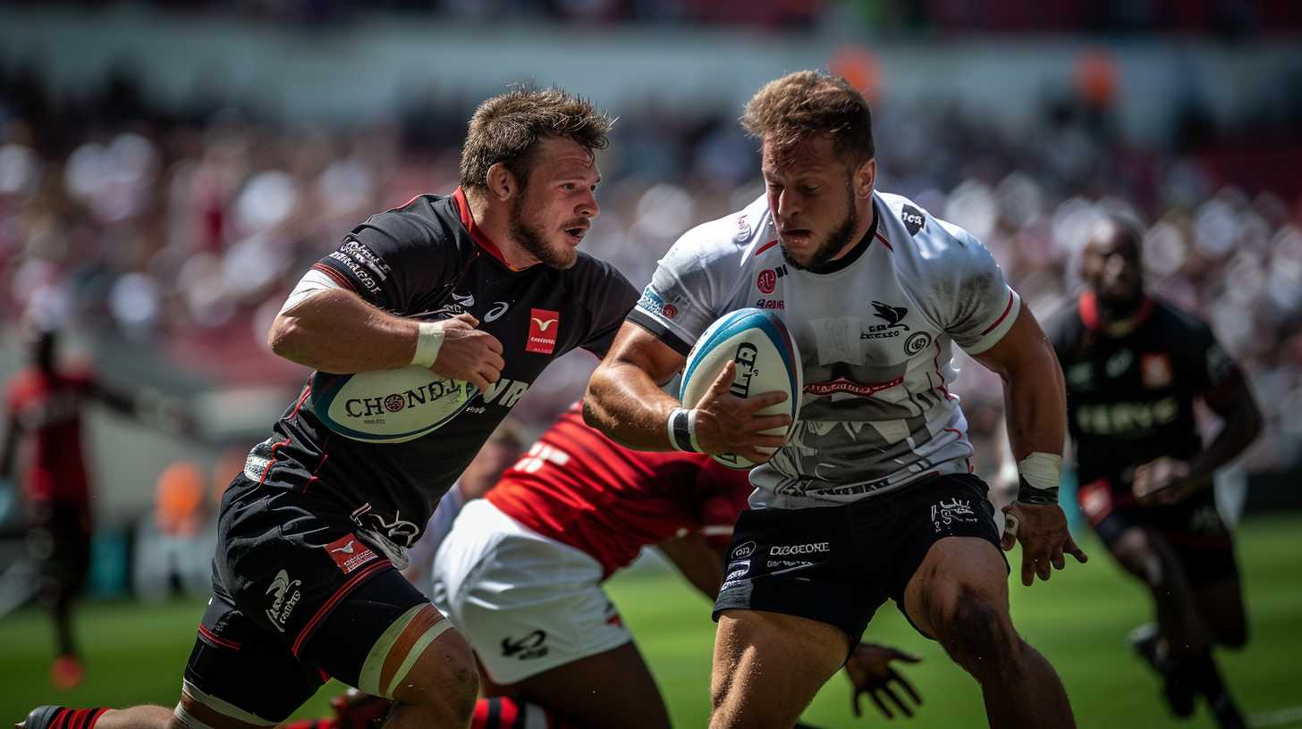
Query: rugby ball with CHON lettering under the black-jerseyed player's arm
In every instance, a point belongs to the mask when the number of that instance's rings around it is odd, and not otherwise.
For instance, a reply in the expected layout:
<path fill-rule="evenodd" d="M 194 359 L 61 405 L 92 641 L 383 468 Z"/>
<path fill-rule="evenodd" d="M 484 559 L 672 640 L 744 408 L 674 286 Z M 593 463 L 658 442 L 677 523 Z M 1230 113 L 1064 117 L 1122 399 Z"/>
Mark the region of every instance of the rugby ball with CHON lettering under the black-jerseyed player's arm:
<path fill-rule="evenodd" d="M 312 411 L 326 427 L 365 443 L 406 443 L 443 427 L 478 391 L 419 364 L 332 375 L 315 372 Z"/>

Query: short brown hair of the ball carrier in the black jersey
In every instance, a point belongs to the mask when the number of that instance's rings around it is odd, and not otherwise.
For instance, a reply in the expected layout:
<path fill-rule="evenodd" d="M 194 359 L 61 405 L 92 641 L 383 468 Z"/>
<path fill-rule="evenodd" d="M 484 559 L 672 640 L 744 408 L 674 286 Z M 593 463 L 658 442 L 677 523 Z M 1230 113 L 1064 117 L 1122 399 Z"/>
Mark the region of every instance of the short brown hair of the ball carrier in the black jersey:
<path fill-rule="evenodd" d="M 519 87 L 492 96 L 470 117 L 461 147 L 461 186 L 488 186 L 488 168 L 499 161 L 525 186 L 539 139 L 562 137 L 604 150 L 612 124 L 587 99 L 556 87 Z"/>

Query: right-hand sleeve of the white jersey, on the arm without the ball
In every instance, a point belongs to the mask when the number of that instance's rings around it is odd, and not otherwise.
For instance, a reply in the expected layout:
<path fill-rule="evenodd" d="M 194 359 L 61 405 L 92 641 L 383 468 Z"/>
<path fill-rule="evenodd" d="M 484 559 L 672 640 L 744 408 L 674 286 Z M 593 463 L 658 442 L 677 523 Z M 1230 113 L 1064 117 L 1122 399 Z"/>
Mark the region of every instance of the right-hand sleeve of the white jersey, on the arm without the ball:
<path fill-rule="evenodd" d="M 1022 299 L 995 256 L 971 233 L 943 220 L 926 266 L 922 309 L 967 354 L 995 346 L 1013 328 Z"/>

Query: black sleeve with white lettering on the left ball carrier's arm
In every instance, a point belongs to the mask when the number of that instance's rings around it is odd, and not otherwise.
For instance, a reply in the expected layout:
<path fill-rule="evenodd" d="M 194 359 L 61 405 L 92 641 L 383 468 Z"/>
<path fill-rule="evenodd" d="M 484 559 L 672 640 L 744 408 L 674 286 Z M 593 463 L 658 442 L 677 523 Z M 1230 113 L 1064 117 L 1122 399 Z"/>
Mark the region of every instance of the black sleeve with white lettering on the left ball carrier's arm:
<path fill-rule="evenodd" d="M 428 221 L 406 211 L 372 215 L 312 266 L 366 302 L 414 314 L 417 302 L 450 282 L 453 245 Z"/>

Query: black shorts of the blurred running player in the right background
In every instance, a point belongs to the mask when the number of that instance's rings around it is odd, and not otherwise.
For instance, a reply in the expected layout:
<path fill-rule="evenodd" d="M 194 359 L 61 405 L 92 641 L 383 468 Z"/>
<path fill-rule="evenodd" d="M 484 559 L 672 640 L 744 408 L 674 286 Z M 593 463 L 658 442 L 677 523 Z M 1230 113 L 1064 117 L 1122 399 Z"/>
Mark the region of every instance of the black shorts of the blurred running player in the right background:
<path fill-rule="evenodd" d="M 1103 499 L 1099 493 L 1086 497 Z M 1234 539 L 1221 521 L 1211 488 L 1168 506 L 1141 506 L 1133 500 L 1126 501 L 1109 508 L 1094 523 L 1109 552 L 1124 532 L 1135 527 L 1146 529 L 1170 544 L 1190 586 L 1238 579 Z"/>

